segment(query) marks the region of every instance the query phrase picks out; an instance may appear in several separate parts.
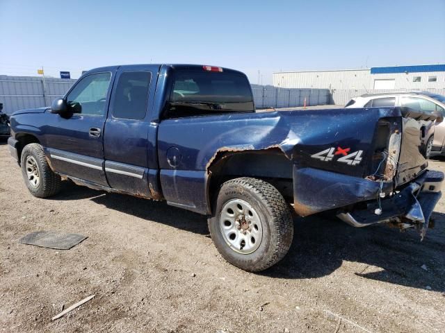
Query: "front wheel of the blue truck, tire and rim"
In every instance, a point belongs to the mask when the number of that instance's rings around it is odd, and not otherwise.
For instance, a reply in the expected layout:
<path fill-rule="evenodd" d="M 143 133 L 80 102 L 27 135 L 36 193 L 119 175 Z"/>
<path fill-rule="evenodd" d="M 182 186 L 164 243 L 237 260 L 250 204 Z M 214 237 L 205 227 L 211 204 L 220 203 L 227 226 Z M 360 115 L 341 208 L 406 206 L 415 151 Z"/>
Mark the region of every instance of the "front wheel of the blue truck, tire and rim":
<path fill-rule="evenodd" d="M 40 144 L 27 144 L 23 148 L 20 164 L 26 187 L 33 196 L 47 198 L 60 191 L 62 180 L 49 167 Z"/>

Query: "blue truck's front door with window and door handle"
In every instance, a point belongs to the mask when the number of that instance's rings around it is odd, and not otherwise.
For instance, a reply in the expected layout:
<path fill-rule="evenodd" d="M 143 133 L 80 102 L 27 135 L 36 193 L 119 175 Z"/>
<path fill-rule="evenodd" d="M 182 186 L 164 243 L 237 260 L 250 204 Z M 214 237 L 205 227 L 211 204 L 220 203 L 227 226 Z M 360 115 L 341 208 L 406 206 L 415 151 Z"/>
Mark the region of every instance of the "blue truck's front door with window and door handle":
<path fill-rule="evenodd" d="M 107 186 L 103 132 L 114 68 L 79 80 L 66 96 L 72 114 L 50 114 L 45 149 L 58 173 Z"/>

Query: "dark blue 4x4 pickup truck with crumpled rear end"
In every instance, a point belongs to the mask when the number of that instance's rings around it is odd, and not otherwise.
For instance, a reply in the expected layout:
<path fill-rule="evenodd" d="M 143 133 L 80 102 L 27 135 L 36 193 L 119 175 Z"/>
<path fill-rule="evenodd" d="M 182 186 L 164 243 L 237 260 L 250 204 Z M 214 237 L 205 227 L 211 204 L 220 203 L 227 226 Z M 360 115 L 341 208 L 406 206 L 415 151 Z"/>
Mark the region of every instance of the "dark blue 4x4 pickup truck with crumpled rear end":
<path fill-rule="evenodd" d="M 63 179 L 209 216 L 225 259 L 262 271 L 286 255 L 292 213 L 425 235 L 444 175 L 422 135 L 435 115 L 403 108 L 255 112 L 248 78 L 201 65 L 92 69 L 51 108 L 10 118 L 29 191 Z"/>

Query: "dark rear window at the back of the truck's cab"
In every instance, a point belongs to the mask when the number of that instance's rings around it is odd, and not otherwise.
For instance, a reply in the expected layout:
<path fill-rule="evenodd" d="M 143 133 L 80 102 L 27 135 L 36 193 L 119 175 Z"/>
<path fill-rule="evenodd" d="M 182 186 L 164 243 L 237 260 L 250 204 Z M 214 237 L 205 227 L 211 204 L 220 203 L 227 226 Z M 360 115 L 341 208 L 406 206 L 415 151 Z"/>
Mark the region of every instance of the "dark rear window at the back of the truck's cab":
<path fill-rule="evenodd" d="M 236 73 L 177 72 L 173 77 L 168 117 L 227 112 L 254 112 L 247 78 Z"/>

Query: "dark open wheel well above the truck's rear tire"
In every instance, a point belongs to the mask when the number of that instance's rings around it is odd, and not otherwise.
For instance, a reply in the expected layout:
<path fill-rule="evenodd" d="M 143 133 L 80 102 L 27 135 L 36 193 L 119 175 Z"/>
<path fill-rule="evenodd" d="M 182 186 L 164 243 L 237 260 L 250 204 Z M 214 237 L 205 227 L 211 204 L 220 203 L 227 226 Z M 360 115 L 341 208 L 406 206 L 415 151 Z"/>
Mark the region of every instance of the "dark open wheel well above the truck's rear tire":
<path fill-rule="evenodd" d="M 275 186 L 282 196 L 293 203 L 293 162 L 280 148 L 246 151 L 220 151 L 207 168 L 207 200 L 209 209 L 227 180 L 252 177 Z"/>

